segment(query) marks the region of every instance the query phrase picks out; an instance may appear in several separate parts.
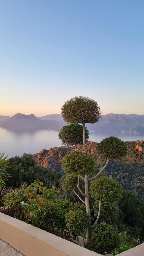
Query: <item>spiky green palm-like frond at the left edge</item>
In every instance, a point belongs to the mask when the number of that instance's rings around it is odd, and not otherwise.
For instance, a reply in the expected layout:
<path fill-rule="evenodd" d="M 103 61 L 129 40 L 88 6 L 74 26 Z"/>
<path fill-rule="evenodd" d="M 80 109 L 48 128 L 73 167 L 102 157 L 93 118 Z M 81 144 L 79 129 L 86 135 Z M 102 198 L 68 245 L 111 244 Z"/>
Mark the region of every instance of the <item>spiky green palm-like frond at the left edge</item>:
<path fill-rule="evenodd" d="M 6 171 L 9 165 L 7 159 L 9 155 L 4 157 L 4 154 L 4 152 L 2 154 L 0 153 L 0 189 L 5 187 L 5 180 L 8 180 L 8 177 L 10 177 L 10 175 Z"/>

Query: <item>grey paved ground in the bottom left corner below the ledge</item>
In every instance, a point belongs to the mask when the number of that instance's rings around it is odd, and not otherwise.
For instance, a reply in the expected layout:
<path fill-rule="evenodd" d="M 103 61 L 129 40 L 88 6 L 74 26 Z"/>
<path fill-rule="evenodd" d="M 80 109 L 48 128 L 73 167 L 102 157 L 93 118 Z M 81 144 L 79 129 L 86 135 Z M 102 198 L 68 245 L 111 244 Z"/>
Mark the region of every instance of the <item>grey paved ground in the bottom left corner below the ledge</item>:
<path fill-rule="evenodd" d="M 23 256 L 23 254 L 16 251 L 10 245 L 0 240 L 0 256 Z"/>

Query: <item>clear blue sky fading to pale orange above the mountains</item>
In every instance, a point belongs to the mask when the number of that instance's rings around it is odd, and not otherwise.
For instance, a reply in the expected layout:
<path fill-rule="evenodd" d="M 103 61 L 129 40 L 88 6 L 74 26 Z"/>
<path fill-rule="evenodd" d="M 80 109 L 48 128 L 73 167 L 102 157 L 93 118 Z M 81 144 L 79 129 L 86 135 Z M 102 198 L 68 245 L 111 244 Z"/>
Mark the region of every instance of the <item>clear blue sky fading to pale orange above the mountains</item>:
<path fill-rule="evenodd" d="M 0 115 L 88 96 L 144 114 L 144 1 L 0 0 Z"/>

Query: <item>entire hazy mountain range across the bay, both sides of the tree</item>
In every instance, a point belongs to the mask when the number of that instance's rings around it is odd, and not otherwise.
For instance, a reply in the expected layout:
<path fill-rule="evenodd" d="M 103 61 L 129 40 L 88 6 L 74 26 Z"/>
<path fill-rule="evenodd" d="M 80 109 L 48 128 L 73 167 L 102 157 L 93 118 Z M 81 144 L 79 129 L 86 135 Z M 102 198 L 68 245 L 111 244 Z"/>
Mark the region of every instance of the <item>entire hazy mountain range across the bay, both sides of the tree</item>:
<path fill-rule="evenodd" d="M 0 127 L 16 130 L 61 130 L 66 125 L 60 114 L 36 117 L 17 113 L 12 117 L 0 116 Z M 98 123 L 86 124 L 89 131 L 117 132 L 123 134 L 144 135 L 144 115 L 136 114 L 107 114 Z"/>

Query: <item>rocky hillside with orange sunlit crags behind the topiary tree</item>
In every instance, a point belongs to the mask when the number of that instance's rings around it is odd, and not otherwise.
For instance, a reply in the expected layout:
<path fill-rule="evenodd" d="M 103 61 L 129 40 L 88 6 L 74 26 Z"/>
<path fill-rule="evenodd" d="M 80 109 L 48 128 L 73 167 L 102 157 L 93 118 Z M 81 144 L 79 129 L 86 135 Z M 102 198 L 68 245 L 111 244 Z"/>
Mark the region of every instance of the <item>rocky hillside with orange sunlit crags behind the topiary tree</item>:
<path fill-rule="evenodd" d="M 105 175 L 118 180 L 125 189 L 130 189 L 141 197 L 144 195 L 144 141 L 126 142 L 126 144 L 128 145 L 127 156 L 122 160 L 111 160 L 105 170 Z M 86 149 L 89 154 L 93 155 L 96 162 L 102 160 L 98 158 L 97 142 L 88 142 Z M 42 149 L 33 157 L 41 166 L 62 172 L 61 159 L 71 150 L 74 150 L 74 147 Z M 78 150 L 83 150 L 83 147 L 78 146 Z"/>

